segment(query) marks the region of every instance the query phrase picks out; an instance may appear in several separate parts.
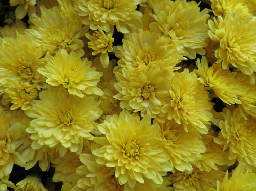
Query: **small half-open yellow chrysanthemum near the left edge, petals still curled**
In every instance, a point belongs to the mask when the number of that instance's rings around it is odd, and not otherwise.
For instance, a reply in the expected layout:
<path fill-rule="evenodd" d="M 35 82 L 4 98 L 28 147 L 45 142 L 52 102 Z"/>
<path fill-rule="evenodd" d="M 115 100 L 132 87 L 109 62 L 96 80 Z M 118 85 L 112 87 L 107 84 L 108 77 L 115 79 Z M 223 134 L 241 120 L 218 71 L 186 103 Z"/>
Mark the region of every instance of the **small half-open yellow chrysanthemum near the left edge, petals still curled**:
<path fill-rule="evenodd" d="M 30 102 L 35 100 L 38 96 L 38 91 L 36 88 L 36 84 L 28 85 L 25 83 L 18 84 L 13 80 L 7 79 L 7 82 L 17 90 L 17 92 L 6 91 L 7 94 L 13 100 L 11 103 L 11 110 L 17 109 L 21 107 L 22 110 L 27 110 L 30 108 Z"/>

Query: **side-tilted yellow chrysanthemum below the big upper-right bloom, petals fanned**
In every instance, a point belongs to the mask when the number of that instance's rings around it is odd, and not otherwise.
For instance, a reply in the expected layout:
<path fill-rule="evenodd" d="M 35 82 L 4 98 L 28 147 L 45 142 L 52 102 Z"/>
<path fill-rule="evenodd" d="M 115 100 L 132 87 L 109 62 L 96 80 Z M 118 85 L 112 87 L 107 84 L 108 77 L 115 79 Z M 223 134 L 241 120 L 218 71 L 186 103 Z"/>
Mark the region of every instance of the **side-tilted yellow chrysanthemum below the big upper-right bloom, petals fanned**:
<path fill-rule="evenodd" d="M 196 66 L 198 80 L 204 86 L 209 86 L 215 97 L 227 104 L 241 104 L 238 96 L 246 93 L 246 88 L 235 78 L 237 72 L 230 72 L 229 67 L 223 69 L 221 63 L 214 63 L 209 68 L 206 57 L 202 57 L 201 62 L 198 58 Z"/>

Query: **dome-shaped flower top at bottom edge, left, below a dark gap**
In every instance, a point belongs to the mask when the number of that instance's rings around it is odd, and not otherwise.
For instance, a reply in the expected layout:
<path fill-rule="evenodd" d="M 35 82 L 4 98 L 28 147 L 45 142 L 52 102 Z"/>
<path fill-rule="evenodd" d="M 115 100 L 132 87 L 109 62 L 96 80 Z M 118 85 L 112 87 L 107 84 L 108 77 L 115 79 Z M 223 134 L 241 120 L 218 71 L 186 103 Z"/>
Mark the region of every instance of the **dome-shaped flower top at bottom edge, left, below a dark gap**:
<path fill-rule="evenodd" d="M 14 191 L 48 191 L 37 177 L 28 177 L 16 184 Z"/>

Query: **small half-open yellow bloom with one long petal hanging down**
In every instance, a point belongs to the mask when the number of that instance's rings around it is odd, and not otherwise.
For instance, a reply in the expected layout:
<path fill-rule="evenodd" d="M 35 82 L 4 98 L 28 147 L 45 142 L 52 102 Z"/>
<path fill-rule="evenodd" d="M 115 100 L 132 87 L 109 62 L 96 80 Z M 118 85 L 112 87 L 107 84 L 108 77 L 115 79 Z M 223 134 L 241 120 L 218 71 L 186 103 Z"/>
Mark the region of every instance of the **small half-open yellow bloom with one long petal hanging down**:
<path fill-rule="evenodd" d="M 92 35 L 86 33 L 85 36 L 90 40 L 90 42 L 88 42 L 88 47 L 94 50 L 94 52 L 92 52 L 92 55 L 97 55 L 98 53 L 101 53 L 100 62 L 103 68 L 107 68 L 109 62 L 107 52 L 113 51 L 112 43 L 114 42 L 114 38 L 112 38 L 111 34 L 108 34 L 106 36 L 106 34 L 101 30 L 99 25 L 97 28 L 99 31 L 95 31 L 95 33 Z"/>

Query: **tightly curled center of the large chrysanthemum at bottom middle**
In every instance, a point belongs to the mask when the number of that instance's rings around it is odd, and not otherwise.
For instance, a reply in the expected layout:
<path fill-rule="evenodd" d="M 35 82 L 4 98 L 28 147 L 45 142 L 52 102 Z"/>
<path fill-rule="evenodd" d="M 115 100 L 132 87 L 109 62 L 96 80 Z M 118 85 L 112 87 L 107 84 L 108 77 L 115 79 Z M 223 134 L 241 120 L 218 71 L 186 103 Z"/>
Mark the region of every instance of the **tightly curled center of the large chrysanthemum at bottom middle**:
<path fill-rule="evenodd" d="M 138 154 L 140 154 L 139 150 L 140 147 L 139 145 L 140 141 L 128 141 L 126 144 L 123 144 L 123 155 L 128 157 L 128 158 L 135 158 L 135 159 L 139 159 L 139 157 L 137 156 Z"/>

